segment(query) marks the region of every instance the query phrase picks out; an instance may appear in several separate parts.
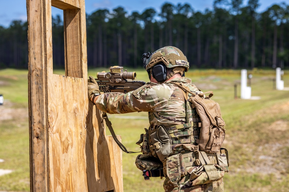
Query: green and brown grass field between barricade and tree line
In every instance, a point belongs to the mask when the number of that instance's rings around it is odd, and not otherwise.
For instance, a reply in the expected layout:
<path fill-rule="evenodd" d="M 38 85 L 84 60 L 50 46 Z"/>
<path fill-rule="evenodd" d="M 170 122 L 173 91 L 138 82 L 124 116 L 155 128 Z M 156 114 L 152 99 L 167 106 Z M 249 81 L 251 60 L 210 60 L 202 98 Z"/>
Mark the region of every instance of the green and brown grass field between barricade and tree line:
<path fill-rule="evenodd" d="M 89 69 L 88 75 L 97 71 Z M 128 69 L 132 71 L 133 69 Z M 137 72 L 138 81 L 148 81 L 147 74 Z M 13 170 L 0 176 L 0 191 L 29 191 L 29 130 L 27 70 L 0 70 L 0 169 Z M 55 71 L 63 74 L 63 71 Z M 213 100 L 221 106 L 226 122 L 223 147 L 229 150 L 229 172 L 225 174 L 226 192 L 289 190 L 289 91 L 273 88 L 275 71 L 252 73 L 252 96 L 260 100 L 234 98 L 234 84 L 240 96 L 240 70 L 191 70 L 186 77 L 203 92 L 212 90 Z M 289 71 L 283 76 L 289 87 Z M 129 151 L 139 150 L 135 144 L 149 123 L 147 113 L 109 115 L 116 134 Z M 130 118 L 133 118 L 132 121 Z M 110 134 L 107 130 L 107 134 Z M 125 192 L 163 191 L 163 180 L 145 181 L 134 164 L 136 154 L 123 153 L 123 185 Z"/>

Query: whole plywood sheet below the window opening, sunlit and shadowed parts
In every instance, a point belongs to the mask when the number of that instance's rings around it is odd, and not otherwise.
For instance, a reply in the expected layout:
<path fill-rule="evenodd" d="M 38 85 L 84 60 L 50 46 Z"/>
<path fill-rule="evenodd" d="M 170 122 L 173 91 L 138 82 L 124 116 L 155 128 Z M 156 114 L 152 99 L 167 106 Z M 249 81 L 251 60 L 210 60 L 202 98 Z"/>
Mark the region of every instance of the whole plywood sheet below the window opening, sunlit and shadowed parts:
<path fill-rule="evenodd" d="M 121 149 L 106 136 L 100 111 L 86 98 L 84 80 L 48 79 L 51 190 L 123 191 Z"/>

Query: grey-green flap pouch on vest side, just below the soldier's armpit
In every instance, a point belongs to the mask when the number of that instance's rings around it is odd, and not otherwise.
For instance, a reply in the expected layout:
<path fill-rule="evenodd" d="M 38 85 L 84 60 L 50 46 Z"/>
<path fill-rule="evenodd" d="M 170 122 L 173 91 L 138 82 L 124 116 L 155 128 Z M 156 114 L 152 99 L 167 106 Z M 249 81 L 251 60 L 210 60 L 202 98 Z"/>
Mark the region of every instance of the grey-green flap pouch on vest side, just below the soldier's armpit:
<path fill-rule="evenodd" d="M 159 159 L 164 162 L 166 158 L 173 152 L 171 137 L 162 126 L 149 132 L 149 137 L 153 144 L 153 148 Z M 152 150 L 151 150 L 152 151 Z"/>

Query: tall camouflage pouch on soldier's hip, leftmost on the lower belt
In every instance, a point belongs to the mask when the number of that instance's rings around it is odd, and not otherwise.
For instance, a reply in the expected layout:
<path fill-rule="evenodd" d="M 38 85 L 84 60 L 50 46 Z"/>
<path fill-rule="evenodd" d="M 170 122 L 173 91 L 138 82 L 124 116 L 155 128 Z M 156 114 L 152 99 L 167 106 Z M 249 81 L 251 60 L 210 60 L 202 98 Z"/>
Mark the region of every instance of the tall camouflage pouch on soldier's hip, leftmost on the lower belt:
<path fill-rule="evenodd" d="M 181 177 L 187 174 L 184 158 L 181 153 L 172 155 L 164 162 L 164 176 L 176 187 Z"/>

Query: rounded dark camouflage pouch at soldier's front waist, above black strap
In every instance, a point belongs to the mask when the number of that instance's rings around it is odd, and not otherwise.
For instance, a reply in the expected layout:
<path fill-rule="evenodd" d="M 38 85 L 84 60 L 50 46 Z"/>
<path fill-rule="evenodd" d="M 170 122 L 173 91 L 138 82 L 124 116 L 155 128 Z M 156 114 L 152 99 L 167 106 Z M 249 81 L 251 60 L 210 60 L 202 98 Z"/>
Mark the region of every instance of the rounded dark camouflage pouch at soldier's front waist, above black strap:
<path fill-rule="evenodd" d="M 140 170 L 162 170 L 163 164 L 160 159 L 151 155 L 140 154 L 136 157 L 136 167 Z"/>

